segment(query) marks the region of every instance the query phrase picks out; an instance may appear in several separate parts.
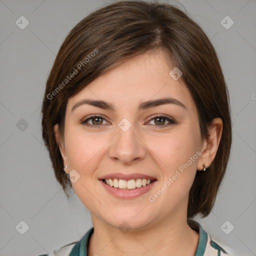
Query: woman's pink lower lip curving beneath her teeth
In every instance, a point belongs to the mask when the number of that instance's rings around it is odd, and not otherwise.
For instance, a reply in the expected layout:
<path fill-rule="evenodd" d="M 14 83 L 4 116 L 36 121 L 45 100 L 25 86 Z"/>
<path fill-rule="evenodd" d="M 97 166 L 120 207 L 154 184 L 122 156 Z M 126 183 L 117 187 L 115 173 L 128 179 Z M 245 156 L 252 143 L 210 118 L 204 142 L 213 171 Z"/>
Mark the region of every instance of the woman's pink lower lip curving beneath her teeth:
<path fill-rule="evenodd" d="M 122 198 L 122 199 L 132 199 L 141 194 L 144 194 L 153 187 L 154 183 L 156 183 L 156 180 L 154 180 L 153 182 L 151 182 L 149 185 L 146 185 L 146 186 L 141 186 L 133 189 L 120 189 L 120 188 L 107 185 L 102 179 L 99 181 L 109 193 L 111 193 L 117 198 Z"/>

